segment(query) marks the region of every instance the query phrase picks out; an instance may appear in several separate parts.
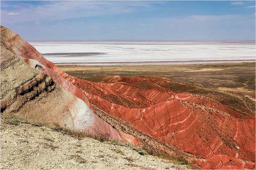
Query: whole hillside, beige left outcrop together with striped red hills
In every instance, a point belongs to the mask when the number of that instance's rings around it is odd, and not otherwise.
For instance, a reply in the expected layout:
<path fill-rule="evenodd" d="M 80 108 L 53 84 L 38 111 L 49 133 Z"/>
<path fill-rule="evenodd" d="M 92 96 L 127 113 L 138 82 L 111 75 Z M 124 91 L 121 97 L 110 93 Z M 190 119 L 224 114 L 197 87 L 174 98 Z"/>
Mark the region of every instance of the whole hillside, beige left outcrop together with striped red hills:
<path fill-rule="evenodd" d="M 203 169 L 255 168 L 255 102 L 243 95 L 154 75 L 78 79 L 2 26 L 1 73 L 1 112 L 106 133 Z"/>

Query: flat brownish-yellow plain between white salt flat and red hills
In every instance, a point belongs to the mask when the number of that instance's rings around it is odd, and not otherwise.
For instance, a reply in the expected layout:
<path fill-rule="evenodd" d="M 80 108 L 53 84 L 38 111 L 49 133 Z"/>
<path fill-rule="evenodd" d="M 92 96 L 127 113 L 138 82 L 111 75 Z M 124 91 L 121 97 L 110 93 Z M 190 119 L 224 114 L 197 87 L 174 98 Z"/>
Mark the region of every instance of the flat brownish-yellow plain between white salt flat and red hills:
<path fill-rule="evenodd" d="M 69 75 L 94 80 L 95 75 L 125 77 L 164 75 L 176 81 L 198 83 L 206 88 L 231 91 L 255 98 L 255 62 L 180 65 L 58 65 Z M 254 99 L 255 100 L 255 99 Z"/>

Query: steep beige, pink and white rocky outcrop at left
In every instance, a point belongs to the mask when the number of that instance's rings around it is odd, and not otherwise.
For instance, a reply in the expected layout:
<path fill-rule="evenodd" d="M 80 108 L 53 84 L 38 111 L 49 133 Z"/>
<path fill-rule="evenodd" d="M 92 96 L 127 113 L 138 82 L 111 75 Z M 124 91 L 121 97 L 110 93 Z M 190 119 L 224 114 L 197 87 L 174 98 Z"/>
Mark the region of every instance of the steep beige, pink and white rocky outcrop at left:
<path fill-rule="evenodd" d="M 72 83 L 71 76 L 1 26 L 1 112 L 139 144 L 93 111 L 86 92 Z"/>

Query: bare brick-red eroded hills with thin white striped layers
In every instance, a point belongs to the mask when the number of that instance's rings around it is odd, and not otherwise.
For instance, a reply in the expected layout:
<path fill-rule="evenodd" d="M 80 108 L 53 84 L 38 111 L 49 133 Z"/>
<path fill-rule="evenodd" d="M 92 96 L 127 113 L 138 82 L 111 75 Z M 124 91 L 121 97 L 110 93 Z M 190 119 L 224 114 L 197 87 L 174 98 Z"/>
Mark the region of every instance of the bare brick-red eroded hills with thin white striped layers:
<path fill-rule="evenodd" d="M 90 94 L 91 103 L 164 143 L 199 156 L 194 160 L 204 169 L 240 169 L 237 165 L 246 163 L 255 167 L 255 118 L 202 95 L 165 90 L 156 83 L 159 79 L 117 78 L 121 82 L 76 82 Z M 144 81 L 150 81 L 153 89 L 136 87 Z M 110 94 L 114 102 L 106 98 Z"/>

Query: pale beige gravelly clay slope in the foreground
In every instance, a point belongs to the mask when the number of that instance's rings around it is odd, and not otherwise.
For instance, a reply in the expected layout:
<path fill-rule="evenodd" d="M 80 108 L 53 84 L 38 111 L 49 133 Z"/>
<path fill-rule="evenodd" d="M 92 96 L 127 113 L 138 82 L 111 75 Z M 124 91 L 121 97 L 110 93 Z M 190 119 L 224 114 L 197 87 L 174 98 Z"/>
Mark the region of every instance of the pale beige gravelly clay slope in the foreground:
<path fill-rule="evenodd" d="M 117 153 L 116 149 L 123 151 L 124 155 Z M 125 157 L 132 157 L 133 161 Z M 125 146 L 91 138 L 78 140 L 44 126 L 15 126 L 1 121 L 1 169 L 13 168 L 187 169 L 151 155 L 140 155 Z"/>

